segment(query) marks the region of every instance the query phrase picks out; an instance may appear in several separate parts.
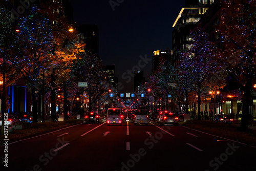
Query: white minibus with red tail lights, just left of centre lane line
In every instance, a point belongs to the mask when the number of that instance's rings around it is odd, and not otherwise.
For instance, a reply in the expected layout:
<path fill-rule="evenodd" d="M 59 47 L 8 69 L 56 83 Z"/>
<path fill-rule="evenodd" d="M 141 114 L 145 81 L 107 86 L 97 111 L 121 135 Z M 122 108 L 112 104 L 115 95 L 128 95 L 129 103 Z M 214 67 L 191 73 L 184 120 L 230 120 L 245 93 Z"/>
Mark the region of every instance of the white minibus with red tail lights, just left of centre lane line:
<path fill-rule="evenodd" d="M 122 125 L 123 115 L 121 108 L 109 108 L 108 112 L 106 113 L 106 119 L 106 123 L 108 124 L 108 126 L 110 124 Z"/>

